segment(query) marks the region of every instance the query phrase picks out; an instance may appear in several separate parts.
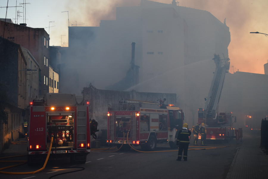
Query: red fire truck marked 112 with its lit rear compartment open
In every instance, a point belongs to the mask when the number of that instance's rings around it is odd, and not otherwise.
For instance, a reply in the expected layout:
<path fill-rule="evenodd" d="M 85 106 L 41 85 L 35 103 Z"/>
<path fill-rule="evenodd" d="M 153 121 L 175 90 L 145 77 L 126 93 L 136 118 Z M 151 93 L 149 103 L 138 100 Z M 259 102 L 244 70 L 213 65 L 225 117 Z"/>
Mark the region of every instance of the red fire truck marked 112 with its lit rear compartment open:
<path fill-rule="evenodd" d="M 50 156 L 69 156 L 71 162 L 85 163 L 90 153 L 89 102 L 82 105 L 81 98 L 75 94 L 48 93 L 45 97 L 36 96 L 31 102 L 29 164 L 40 163 L 46 158 L 52 135 Z"/>

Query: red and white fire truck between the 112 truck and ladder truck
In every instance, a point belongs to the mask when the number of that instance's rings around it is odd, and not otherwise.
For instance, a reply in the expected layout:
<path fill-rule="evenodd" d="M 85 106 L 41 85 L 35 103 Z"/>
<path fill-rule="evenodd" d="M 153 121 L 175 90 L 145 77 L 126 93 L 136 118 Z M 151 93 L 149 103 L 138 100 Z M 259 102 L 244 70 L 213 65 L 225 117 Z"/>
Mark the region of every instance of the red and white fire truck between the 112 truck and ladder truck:
<path fill-rule="evenodd" d="M 107 143 L 121 150 L 140 145 L 142 150 L 153 151 L 158 142 L 169 142 L 175 148 L 177 130 L 182 128 L 183 111 L 174 105 L 121 99 L 108 107 Z M 128 139 L 128 142 L 127 142 Z M 123 144 L 123 145 L 122 145 Z"/>

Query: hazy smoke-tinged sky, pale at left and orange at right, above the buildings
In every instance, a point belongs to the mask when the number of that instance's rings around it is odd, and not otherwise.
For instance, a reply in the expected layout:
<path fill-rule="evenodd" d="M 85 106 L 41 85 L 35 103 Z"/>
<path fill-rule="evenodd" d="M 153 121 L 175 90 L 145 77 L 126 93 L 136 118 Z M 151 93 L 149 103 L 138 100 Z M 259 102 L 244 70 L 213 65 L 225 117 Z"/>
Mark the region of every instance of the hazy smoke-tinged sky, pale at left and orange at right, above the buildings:
<path fill-rule="evenodd" d="M 166 4 L 172 2 L 152 1 Z M 0 18 L 5 18 L 7 12 L 7 18 L 11 18 L 14 23 L 45 28 L 50 35 L 50 46 L 68 46 L 68 25 L 99 26 L 100 20 L 116 19 L 116 7 L 138 6 L 140 2 L 141 0 L 9 0 L 9 8 L 6 8 L 7 0 L 1 0 L 0 6 L 4 8 L 0 8 Z M 24 8 L 11 7 L 16 6 L 16 3 Z M 228 47 L 230 73 L 239 70 L 264 74 L 263 65 L 268 60 L 268 36 L 249 32 L 268 34 L 267 0 L 180 0 L 179 5 L 206 10 L 221 22 L 226 18 L 231 34 Z M 16 10 L 21 13 L 16 13 Z"/>

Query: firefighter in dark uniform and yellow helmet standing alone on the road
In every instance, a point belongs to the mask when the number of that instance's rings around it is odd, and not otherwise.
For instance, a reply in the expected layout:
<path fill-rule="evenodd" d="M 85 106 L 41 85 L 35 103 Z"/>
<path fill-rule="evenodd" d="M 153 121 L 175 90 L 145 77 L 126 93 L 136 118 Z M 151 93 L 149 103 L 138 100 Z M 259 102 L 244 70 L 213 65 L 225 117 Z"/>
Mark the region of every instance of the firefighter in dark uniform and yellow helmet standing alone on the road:
<path fill-rule="evenodd" d="M 190 135 L 191 135 L 191 131 L 188 129 L 188 124 L 184 123 L 183 128 L 179 130 L 179 133 L 177 136 L 177 145 L 179 145 L 177 161 L 181 161 L 182 152 L 183 152 L 184 161 L 187 161 L 187 152 L 188 152 L 188 147 L 190 143 L 190 139 L 189 139 Z"/>

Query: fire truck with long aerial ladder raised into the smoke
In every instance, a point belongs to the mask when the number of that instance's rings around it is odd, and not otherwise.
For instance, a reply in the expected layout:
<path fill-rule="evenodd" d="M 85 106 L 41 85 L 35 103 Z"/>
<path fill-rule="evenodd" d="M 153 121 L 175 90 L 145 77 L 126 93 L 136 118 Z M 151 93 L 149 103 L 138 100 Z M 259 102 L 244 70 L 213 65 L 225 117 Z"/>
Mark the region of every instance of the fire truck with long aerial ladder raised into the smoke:
<path fill-rule="evenodd" d="M 233 138 L 234 135 L 231 113 L 219 113 L 218 108 L 225 74 L 228 73 L 230 68 L 230 59 L 220 59 L 219 55 L 214 54 L 213 60 L 216 63 L 216 70 L 208 97 L 205 98 L 205 108 L 198 109 L 198 123 L 205 124 L 207 130 L 206 139 L 228 140 Z"/>

